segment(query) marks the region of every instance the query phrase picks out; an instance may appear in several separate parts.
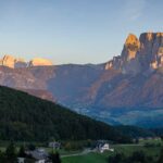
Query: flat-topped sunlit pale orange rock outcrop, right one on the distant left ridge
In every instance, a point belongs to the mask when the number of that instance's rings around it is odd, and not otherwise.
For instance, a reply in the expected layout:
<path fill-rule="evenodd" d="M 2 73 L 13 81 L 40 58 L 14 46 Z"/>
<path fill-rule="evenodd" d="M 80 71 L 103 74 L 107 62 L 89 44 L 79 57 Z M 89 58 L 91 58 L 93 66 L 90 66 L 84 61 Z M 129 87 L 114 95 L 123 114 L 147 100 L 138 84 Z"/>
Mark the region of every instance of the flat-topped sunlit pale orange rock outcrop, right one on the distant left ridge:
<path fill-rule="evenodd" d="M 29 62 L 29 66 L 49 66 L 49 65 L 52 65 L 52 62 L 50 60 L 46 60 L 41 58 L 33 59 Z"/>

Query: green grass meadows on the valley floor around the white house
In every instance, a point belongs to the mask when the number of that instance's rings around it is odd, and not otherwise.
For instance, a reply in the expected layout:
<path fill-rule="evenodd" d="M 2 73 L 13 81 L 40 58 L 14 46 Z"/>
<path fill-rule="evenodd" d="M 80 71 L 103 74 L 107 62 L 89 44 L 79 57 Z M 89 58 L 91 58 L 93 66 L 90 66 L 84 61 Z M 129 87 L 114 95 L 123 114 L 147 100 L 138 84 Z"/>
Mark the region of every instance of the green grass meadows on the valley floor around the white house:
<path fill-rule="evenodd" d="M 0 151 L 5 151 L 7 142 L 0 145 Z M 22 142 L 16 143 L 16 151 Z M 41 147 L 39 143 L 36 147 Z M 131 155 L 136 151 L 143 151 L 147 156 L 152 156 L 154 162 L 160 155 L 160 151 L 163 148 L 163 141 L 160 140 L 140 140 L 138 143 L 130 145 L 112 145 L 110 148 L 114 149 L 114 152 L 105 151 L 103 153 L 95 152 L 90 149 L 66 151 L 64 149 L 59 150 L 62 163 L 110 163 L 109 158 L 117 153 L 123 153 L 126 156 Z M 51 148 L 46 148 L 47 152 L 51 152 Z"/>

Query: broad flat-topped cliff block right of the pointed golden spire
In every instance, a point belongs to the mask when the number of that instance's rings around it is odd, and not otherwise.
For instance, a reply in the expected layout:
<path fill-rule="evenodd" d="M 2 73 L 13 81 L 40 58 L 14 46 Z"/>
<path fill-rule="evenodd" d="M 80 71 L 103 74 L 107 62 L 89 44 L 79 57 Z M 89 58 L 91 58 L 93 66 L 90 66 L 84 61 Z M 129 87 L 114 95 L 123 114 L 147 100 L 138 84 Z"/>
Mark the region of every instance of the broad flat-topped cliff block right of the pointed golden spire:
<path fill-rule="evenodd" d="M 163 33 L 145 33 L 140 35 L 138 53 L 141 71 L 156 70 L 163 66 Z"/>

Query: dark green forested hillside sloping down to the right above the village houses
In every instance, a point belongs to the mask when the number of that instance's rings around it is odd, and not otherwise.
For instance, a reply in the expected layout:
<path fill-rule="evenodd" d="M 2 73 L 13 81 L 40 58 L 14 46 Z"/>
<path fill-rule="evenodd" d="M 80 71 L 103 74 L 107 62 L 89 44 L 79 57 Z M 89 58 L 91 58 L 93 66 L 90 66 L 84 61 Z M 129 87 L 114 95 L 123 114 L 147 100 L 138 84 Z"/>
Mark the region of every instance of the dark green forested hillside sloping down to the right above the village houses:
<path fill-rule="evenodd" d="M 51 138 L 129 140 L 104 123 L 26 92 L 0 87 L 0 139 L 40 141 Z"/>

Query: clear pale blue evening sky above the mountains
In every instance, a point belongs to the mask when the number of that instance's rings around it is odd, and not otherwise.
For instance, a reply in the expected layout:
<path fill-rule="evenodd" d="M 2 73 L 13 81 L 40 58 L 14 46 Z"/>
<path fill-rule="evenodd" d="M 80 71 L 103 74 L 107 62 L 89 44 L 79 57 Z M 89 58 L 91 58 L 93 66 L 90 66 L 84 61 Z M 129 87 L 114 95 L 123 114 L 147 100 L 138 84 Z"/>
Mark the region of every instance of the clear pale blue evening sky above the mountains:
<path fill-rule="evenodd" d="M 129 33 L 163 32 L 162 0 L 0 0 L 0 57 L 103 63 Z"/>

